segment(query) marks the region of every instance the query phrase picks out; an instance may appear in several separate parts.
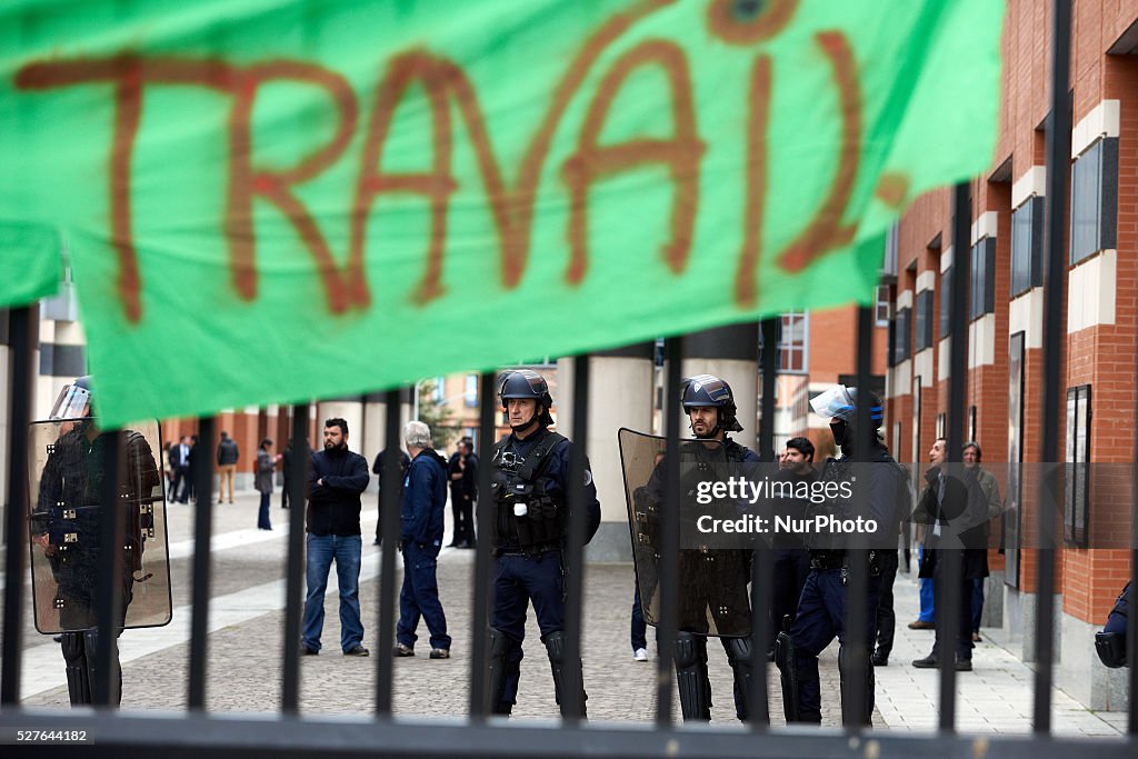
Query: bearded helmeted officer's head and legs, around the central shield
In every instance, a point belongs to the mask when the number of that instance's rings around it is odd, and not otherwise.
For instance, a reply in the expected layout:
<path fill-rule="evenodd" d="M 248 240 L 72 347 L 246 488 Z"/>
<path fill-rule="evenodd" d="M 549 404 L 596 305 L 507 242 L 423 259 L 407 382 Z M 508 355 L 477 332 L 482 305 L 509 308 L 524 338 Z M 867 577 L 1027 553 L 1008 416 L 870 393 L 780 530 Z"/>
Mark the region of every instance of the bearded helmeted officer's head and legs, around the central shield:
<path fill-rule="evenodd" d="M 721 454 L 728 464 L 758 463 L 759 456 L 732 440 L 727 432 L 741 432 L 735 396 L 731 386 L 711 374 L 683 381 L 681 403 L 692 435 L 699 440 L 715 440 L 708 451 Z M 704 446 L 691 452 L 702 453 Z M 708 612 L 715 620 L 719 642 L 727 653 L 734 675 L 735 715 L 750 717 L 751 645 L 750 581 L 751 556 L 735 548 L 699 548 L 679 555 L 679 614 L 676 632 L 676 686 L 684 720 L 711 719 L 711 684 L 708 679 Z"/>

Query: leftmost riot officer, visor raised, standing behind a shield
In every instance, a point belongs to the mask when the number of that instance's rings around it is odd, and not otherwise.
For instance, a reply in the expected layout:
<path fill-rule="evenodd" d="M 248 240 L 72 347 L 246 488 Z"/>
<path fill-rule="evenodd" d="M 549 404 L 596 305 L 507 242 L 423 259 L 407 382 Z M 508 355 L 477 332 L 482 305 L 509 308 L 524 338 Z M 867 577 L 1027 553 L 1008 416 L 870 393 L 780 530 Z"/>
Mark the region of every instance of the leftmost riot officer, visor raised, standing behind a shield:
<path fill-rule="evenodd" d="M 31 513 L 33 542 L 41 551 L 40 556 L 33 556 L 33 584 L 38 593 L 49 585 L 36 583 L 34 575 L 35 566 L 46 558 L 55 580 L 50 605 L 58 612 L 58 624 L 48 626 L 61 630 L 67 691 L 75 706 L 92 702 L 94 673 L 102 666 L 96 661 L 96 654 L 99 608 L 107 603 L 98 595 L 99 575 L 106 563 L 100 533 L 102 521 L 112 518 L 102 503 L 106 447 L 123 446 L 118 503 L 115 505 L 125 509 L 125 533 L 116 541 L 122 548 L 110 559 L 121 583 L 123 602 L 116 635 L 126 624 L 135 581 L 148 579 L 147 576 L 135 577 L 135 574 L 142 569 L 145 541 L 152 535 L 155 489 L 160 486 L 162 477 L 150 444 L 141 432 L 125 430 L 119 438 L 115 432 L 99 430 L 91 415 L 89 377 L 81 377 L 64 388 L 50 419 L 55 422 L 36 430 L 49 431 L 52 436 L 58 434 L 58 438 L 47 445 L 47 461 L 39 476 L 38 498 Z M 160 501 L 160 489 L 157 493 Z M 117 670 L 117 644 L 112 645 L 112 655 Z M 118 686 L 113 691 L 112 698 L 117 704 L 122 699 L 121 671 Z"/>

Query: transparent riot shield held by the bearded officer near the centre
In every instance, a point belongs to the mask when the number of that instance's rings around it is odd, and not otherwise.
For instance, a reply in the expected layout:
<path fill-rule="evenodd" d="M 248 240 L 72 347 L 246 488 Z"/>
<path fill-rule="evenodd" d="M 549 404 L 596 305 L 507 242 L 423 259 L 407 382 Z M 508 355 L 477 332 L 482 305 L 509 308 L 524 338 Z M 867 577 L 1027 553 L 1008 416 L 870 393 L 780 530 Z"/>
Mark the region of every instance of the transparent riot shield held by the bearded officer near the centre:
<path fill-rule="evenodd" d="M 621 429 L 618 439 L 641 608 L 644 620 L 654 626 L 661 619 L 660 541 L 666 439 L 630 429 Z M 700 503 L 695 497 L 709 489 L 707 484 L 723 481 L 731 465 L 723 446 L 714 440 L 681 440 L 678 455 L 683 537 L 678 556 L 677 627 L 711 636 L 750 635 L 748 584 L 752 551 L 709 547 L 692 537 L 699 535 L 695 525 L 701 517 L 731 509 L 729 504 L 716 501 Z"/>

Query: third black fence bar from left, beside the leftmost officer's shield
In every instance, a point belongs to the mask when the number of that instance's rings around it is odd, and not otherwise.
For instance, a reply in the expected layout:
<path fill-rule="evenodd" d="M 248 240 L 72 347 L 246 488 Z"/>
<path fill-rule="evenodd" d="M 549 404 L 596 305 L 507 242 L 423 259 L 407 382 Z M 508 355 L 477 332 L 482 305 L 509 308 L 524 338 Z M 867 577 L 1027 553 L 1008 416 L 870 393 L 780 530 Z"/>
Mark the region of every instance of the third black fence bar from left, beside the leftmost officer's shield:
<path fill-rule="evenodd" d="M 213 416 L 198 420 L 198 445 L 208 449 L 217 422 Z M 203 457 L 205 456 L 205 457 Z M 193 605 L 190 611 L 190 709 L 206 707 L 206 641 L 209 635 L 209 542 L 213 535 L 212 457 L 198 451 L 193 472 Z M 284 484 L 288 487 L 288 482 Z"/>

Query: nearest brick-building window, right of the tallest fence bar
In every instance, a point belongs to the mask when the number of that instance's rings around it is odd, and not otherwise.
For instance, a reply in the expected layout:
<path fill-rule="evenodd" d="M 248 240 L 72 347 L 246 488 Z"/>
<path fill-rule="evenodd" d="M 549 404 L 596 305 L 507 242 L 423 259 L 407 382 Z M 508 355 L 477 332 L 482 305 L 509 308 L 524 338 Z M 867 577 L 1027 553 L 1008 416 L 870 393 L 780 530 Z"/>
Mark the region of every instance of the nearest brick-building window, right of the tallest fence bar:
<path fill-rule="evenodd" d="M 1071 168 L 1071 263 L 1118 246 L 1119 139 L 1103 138 Z"/>

